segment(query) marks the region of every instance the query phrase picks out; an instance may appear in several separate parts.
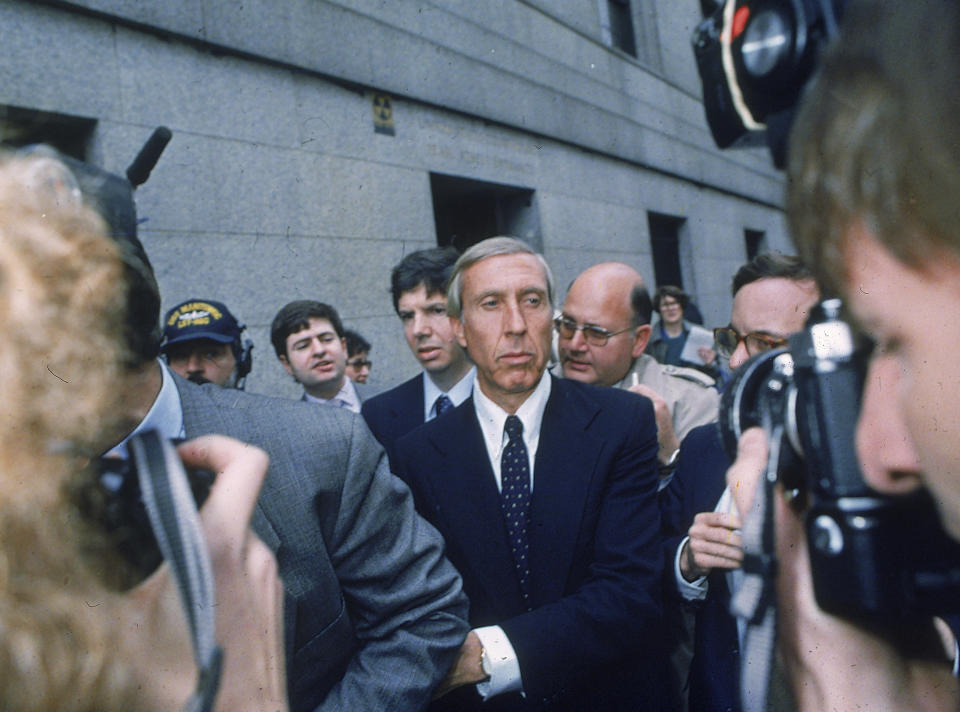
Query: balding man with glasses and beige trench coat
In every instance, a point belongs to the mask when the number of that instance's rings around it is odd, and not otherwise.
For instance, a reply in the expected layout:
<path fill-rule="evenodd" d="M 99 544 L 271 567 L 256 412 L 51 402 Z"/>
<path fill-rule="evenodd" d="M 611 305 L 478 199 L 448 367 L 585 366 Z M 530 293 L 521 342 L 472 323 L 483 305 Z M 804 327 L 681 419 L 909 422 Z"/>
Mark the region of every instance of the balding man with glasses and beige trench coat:
<path fill-rule="evenodd" d="M 565 377 L 616 386 L 653 401 L 658 458 L 666 467 L 692 428 L 716 420 L 719 396 L 709 376 L 661 365 L 643 353 L 650 312 L 640 273 L 622 262 L 603 262 L 573 281 L 554 324 Z"/>

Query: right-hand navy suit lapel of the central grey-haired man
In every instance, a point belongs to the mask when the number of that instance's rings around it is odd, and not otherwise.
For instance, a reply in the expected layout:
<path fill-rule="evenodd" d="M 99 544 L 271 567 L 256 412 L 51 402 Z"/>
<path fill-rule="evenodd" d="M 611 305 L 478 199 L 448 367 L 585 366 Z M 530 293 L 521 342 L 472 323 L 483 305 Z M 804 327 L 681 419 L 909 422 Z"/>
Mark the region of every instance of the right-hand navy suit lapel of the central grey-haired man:
<path fill-rule="evenodd" d="M 540 426 L 530 516 L 537 597 L 563 596 L 603 443 L 587 432 L 598 407 L 554 379 Z"/>

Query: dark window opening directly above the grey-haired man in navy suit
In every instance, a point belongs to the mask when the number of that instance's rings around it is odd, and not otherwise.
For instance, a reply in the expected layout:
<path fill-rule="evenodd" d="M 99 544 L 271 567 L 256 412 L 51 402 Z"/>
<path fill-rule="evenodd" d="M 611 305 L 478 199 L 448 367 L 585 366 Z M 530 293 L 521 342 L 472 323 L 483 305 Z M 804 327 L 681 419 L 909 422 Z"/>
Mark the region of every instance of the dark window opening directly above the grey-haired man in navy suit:
<path fill-rule="evenodd" d="M 542 250 L 533 190 L 470 178 L 430 174 L 437 244 L 460 252 L 496 235 L 511 235 Z"/>

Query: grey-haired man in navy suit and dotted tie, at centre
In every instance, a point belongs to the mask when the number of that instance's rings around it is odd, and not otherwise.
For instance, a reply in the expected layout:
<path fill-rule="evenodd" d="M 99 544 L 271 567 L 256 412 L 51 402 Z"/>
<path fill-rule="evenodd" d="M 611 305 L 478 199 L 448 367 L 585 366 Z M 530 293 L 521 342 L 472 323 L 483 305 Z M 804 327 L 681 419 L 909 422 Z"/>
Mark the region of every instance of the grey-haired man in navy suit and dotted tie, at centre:
<path fill-rule="evenodd" d="M 441 692 L 463 689 L 440 703 L 659 709 L 650 401 L 546 372 L 552 278 L 519 240 L 470 248 L 447 297 L 477 366 L 473 395 L 396 448 L 396 471 L 443 534 L 471 602 L 474 630 Z"/>

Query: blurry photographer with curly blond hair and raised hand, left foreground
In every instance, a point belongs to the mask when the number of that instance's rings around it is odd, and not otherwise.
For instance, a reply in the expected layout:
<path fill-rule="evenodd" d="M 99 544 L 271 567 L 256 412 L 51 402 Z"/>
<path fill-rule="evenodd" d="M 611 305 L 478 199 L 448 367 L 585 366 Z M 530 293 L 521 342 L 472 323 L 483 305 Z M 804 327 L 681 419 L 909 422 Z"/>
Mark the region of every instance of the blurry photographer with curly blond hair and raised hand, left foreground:
<path fill-rule="evenodd" d="M 118 426 L 122 269 L 60 162 L 0 157 L 0 708 L 10 712 L 177 710 L 196 683 L 170 569 L 128 593 L 108 589 L 104 542 L 71 496 Z M 266 457 L 223 437 L 180 454 L 218 475 L 202 515 L 225 650 L 215 709 L 285 709 L 283 591 L 249 528 Z"/>

